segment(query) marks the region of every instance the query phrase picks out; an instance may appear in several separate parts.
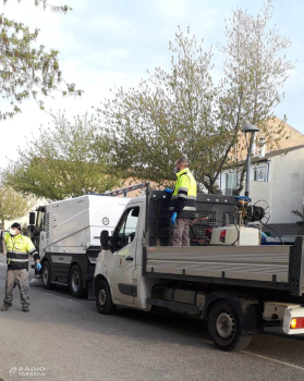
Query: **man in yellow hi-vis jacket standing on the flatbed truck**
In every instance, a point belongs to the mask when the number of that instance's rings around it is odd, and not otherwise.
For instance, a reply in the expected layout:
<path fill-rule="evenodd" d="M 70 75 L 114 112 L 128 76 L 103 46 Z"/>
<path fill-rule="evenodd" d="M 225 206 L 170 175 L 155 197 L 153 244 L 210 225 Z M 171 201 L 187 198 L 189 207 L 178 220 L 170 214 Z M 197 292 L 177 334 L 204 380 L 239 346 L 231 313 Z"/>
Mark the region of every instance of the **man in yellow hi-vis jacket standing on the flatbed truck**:
<path fill-rule="evenodd" d="M 169 246 L 190 246 L 189 226 L 196 213 L 196 181 L 189 170 L 189 161 L 185 157 L 177 161 L 174 172 L 177 174 L 174 189 L 165 189 L 172 194 L 169 208 L 172 214 L 168 244 Z"/>

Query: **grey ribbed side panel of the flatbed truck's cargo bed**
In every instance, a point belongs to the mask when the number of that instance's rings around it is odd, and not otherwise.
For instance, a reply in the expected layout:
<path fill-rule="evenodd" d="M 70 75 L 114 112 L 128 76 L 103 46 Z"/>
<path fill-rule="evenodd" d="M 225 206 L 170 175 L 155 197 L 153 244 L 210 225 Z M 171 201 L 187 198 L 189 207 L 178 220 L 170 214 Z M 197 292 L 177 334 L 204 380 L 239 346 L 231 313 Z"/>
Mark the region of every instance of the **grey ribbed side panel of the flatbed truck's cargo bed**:
<path fill-rule="evenodd" d="M 303 248 L 294 246 L 147 247 L 146 275 L 303 293 Z"/>

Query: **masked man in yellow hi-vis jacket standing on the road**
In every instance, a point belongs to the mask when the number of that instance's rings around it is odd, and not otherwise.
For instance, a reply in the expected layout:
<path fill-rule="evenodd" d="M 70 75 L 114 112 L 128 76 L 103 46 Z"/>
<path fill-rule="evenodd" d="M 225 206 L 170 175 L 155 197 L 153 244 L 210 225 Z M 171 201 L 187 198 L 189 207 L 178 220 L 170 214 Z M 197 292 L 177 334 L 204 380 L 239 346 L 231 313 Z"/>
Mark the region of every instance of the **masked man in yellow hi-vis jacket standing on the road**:
<path fill-rule="evenodd" d="M 7 245 L 7 281 L 5 297 L 1 311 L 7 311 L 13 302 L 13 288 L 17 285 L 20 290 L 21 304 L 24 312 L 28 312 L 29 306 L 29 281 L 28 281 L 28 254 L 35 261 L 37 269 L 41 269 L 39 254 L 31 238 L 21 234 L 21 225 L 15 222 L 9 232 L 0 231 L 0 238 Z"/>

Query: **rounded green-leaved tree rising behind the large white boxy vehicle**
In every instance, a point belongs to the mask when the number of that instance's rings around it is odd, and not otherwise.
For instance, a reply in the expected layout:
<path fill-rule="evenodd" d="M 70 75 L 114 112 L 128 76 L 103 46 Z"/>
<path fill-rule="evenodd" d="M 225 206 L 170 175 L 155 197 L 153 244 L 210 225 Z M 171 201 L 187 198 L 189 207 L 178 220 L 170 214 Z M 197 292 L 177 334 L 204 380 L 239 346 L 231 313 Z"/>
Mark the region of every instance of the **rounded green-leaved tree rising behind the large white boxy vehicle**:
<path fill-rule="evenodd" d="M 107 140 L 93 118 L 85 114 L 70 122 L 59 114 L 51 127 L 41 127 L 39 136 L 28 140 L 26 150 L 19 149 L 3 182 L 22 194 L 51 200 L 104 193 L 119 184 L 119 174 L 109 175 L 109 160 Z"/>

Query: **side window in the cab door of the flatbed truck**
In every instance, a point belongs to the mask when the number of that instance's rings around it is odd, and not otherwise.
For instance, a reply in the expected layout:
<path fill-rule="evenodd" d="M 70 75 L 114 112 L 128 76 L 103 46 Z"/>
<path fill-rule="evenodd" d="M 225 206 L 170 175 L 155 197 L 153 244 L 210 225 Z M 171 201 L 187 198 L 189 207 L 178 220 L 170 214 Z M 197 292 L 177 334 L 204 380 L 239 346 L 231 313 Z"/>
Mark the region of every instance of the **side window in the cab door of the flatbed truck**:
<path fill-rule="evenodd" d="M 139 207 L 127 209 L 123 214 L 115 232 L 115 250 L 121 250 L 134 239 L 138 216 Z"/>

